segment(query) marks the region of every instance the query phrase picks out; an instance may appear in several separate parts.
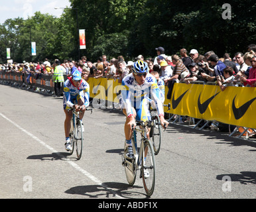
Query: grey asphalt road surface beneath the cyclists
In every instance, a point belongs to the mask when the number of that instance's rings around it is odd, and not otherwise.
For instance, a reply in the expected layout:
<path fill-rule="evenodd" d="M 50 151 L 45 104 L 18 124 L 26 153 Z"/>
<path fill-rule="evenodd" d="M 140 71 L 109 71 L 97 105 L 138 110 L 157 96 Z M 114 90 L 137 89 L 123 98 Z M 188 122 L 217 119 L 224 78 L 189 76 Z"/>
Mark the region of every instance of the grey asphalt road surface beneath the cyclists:
<path fill-rule="evenodd" d="M 84 117 L 81 160 L 64 150 L 62 99 L 0 85 L 0 198 L 145 199 L 121 165 L 120 111 Z M 156 156 L 154 199 L 256 197 L 255 142 L 170 125 Z"/>

